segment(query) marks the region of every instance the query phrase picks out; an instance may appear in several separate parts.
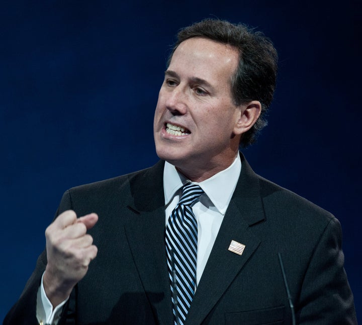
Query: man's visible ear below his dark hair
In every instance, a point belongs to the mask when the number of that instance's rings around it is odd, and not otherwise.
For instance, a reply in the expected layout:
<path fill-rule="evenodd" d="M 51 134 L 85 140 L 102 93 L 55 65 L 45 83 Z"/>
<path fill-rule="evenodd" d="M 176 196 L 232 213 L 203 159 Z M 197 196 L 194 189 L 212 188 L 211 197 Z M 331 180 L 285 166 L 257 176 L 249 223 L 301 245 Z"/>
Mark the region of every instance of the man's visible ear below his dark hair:
<path fill-rule="evenodd" d="M 261 104 L 258 100 L 252 100 L 241 104 L 238 110 L 238 118 L 234 126 L 234 134 L 241 135 L 248 131 L 259 118 L 261 113 Z"/>

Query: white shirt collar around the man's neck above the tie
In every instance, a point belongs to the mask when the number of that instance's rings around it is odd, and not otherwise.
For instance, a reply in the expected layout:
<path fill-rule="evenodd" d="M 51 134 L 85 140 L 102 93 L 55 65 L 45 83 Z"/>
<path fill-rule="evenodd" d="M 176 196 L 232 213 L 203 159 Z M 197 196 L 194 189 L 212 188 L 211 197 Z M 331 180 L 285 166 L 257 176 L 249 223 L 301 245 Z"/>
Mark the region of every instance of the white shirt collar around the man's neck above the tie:
<path fill-rule="evenodd" d="M 200 183 L 193 183 L 200 185 L 218 211 L 224 215 L 231 200 L 231 196 L 234 193 L 240 171 L 241 160 L 240 155 L 237 155 L 234 162 L 228 168 Z M 175 166 L 166 161 L 163 169 L 165 204 L 167 205 L 172 200 L 177 190 L 188 182 L 190 182 L 190 180 L 179 173 Z"/>

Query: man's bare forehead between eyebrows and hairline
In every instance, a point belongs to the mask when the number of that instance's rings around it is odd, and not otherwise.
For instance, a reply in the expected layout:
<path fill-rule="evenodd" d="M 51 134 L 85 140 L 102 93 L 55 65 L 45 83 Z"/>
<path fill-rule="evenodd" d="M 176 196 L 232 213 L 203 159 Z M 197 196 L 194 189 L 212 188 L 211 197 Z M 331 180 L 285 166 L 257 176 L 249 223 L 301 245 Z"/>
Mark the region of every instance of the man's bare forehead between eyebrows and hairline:
<path fill-rule="evenodd" d="M 177 73 L 192 73 L 194 77 L 208 81 L 218 78 L 230 80 L 239 60 L 238 50 L 207 38 L 194 37 L 178 45 L 170 64 L 170 70 Z M 220 80 L 219 80 L 220 81 Z"/>

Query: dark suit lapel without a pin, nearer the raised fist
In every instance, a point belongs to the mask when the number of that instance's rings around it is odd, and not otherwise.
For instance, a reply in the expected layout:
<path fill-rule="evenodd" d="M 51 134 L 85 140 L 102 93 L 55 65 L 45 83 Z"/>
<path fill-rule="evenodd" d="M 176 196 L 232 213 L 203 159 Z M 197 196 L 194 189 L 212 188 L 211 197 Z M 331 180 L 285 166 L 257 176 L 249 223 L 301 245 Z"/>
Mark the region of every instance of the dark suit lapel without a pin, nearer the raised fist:
<path fill-rule="evenodd" d="M 164 243 L 163 162 L 131 178 L 130 189 L 127 240 L 156 317 L 160 323 L 170 324 L 173 314 Z"/>

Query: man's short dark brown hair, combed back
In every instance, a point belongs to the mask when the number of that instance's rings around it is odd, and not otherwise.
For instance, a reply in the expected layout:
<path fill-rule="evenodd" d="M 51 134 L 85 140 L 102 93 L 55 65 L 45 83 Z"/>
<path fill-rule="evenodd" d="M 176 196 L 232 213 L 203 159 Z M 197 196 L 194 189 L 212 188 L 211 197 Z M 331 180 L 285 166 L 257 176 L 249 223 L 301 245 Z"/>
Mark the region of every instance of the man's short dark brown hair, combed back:
<path fill-rule="evenodd" d="M 277 79 L 277 51 L 261 32 L 254 32 L 242 24 L 206 19 L 178 32 L 167 66 L 179 44 L 193 37 L 204 37 L 231 45 L 239 53 L 237 69 L 230 76 L 234 103 L 239 105 L 251 100 L 261 103 L 260 117 L 241 137 L 240 146 L 247 147 L 255 142 L 258 133 L 267 124 L 265 113 L 273 100 Z"/>

